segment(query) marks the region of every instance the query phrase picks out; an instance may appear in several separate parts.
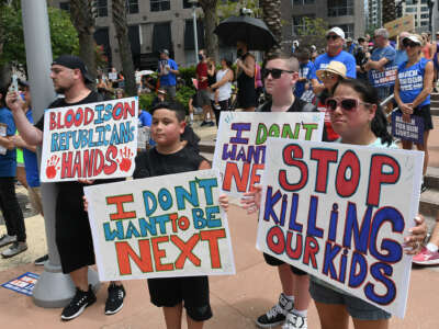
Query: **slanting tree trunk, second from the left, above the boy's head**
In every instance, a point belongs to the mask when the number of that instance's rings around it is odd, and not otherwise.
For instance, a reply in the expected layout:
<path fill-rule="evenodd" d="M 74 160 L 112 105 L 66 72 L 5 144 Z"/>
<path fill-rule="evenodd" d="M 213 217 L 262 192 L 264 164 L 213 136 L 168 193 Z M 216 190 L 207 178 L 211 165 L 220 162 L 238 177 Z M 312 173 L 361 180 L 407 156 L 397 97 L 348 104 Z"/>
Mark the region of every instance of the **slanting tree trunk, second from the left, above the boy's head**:
<path fill-rule="evenodd" d="M 128 38 L 128 24 L 126 21 L 126 1 L 112 1 L 113 24 L 119 44 L 119 56 L 121 57 L 122 70 L 125 78 L 125 92 L 133 97 L 137 94 L 136 80 L 134 78 L 133 55 Z"/>

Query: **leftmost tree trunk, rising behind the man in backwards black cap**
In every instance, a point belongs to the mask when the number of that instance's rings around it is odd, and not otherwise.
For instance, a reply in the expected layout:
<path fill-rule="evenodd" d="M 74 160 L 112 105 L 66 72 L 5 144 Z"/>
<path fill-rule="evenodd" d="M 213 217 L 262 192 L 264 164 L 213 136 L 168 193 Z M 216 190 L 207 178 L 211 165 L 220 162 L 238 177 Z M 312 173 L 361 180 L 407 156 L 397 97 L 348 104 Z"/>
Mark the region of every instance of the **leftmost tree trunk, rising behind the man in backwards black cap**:
<path fill-rule="evenodd" d="M 94 43 L 94 18 L 91 12 L 91 1 L 71 0 L 70 20 L 79 38 L 79 57 L 87 65 L 91 76 L 97 76 L 95 67 L 95 43 Z"/>

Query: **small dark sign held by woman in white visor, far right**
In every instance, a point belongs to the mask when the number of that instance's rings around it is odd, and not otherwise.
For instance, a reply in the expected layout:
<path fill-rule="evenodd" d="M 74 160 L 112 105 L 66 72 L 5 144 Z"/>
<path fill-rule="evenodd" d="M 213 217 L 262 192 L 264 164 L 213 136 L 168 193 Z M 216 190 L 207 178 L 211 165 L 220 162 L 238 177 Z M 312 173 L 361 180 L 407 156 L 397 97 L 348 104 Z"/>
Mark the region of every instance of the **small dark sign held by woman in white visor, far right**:
<path fill-rule="evenodd" d="M 410 122 L 403 121 L 403 113 L 392 113 L 392 135 L 396 138 L 424 144 L 424 118 L 410 115 Z"/>

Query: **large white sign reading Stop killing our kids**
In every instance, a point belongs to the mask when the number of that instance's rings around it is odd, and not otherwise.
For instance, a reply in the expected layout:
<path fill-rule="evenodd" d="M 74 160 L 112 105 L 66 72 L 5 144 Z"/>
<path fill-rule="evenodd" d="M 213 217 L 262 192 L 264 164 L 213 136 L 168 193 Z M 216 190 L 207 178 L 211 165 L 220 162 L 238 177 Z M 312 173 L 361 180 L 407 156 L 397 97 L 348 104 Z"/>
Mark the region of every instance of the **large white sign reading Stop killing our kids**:
<path fill-rule="evenodd" d="M 257 248 L 404 317 L 424 154 L 269 138 Z"/>

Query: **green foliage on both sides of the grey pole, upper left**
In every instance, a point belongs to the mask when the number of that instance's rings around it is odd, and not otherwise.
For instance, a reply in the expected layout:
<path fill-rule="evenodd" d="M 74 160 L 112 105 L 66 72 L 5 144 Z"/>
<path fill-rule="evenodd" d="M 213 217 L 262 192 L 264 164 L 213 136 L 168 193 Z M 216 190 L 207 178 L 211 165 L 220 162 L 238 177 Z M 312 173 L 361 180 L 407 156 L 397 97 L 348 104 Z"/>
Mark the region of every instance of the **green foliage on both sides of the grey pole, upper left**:
<path fill-rule="evenodd" d="M 48 16 L 53 56 L 78 54 L 78 34 L 69 14 L 60 9 L 48 8 Z M 3 46 L 0 65 L 13 63 L 25 66 L 22 11 L 19 7 L 0 5 L 0 44 Z"/>

